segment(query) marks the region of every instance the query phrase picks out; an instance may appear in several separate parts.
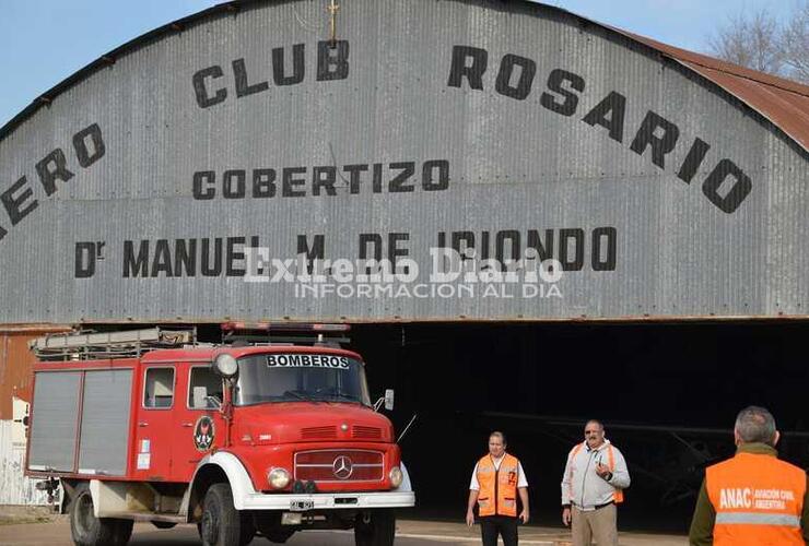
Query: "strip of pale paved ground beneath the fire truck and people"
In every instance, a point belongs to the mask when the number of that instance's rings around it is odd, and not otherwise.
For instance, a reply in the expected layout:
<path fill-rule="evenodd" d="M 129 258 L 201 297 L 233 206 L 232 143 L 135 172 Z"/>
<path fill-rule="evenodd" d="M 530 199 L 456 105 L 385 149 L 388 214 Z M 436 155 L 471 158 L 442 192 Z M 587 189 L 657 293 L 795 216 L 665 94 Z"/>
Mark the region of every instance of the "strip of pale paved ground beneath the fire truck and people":
<path fill-rule="evenodd" d="M 460 523 L 435 523 L 403 520 L 398 524 L 396 544 L 399 546 L 439 546 L 458 544 L 464 546 L 479 545 L 480 530 L 471 530 Z M 520 529 L 520 544 L 565 546 L 570 535 L 559 529 L 527 526 Z M 290 546 L 350 546 L 354 544 L 352 532 L 310 531 L 298 533 L 286 543 Z M 622 533 L 621 546 L 685 546 L 688 541 L 681 536 L 665 536 Z M 197 529 L 191 525 L 178 525 L 172 530 L 157 530 L 149 523 L 134 526 L 132 545 L 140 546 L 197 546 Z M 263 538 L 256 538 L 251 544 L 270 544 Z M 22 523 L 0 525 L 0 545 L 2 546 L 70 546 L 70 526 L 65 518 L 48 523 Z"/>

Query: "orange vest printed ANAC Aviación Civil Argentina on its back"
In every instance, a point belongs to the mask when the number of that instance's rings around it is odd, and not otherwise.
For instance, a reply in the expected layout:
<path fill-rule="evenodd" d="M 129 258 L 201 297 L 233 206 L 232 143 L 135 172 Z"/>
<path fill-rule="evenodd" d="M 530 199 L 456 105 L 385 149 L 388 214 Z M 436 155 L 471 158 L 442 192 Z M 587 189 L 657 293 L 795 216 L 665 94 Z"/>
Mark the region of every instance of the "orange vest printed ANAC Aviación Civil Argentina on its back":
<path fill-rule="evenodd" d="M 806 472 L 760 453 L 736 456 L 705 471 L 705 488 L 716 510 L 716 546 L 804 546 L 800 515 Z"/>

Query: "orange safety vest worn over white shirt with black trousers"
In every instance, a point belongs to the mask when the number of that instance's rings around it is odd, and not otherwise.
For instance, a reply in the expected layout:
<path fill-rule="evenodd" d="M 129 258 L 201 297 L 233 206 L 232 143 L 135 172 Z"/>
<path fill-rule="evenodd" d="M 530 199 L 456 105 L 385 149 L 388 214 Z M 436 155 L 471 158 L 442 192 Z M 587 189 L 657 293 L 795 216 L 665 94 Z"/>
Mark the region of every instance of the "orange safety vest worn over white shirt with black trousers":
<path fill-rule="evenodd" d="M 517 517 L 517 483 L 519 461 L 508 453 L 503 455 L 500 470 L 494 467 L 492 455 L 478 461 L 478 510 L 481 518 L 486 515 Z"/>

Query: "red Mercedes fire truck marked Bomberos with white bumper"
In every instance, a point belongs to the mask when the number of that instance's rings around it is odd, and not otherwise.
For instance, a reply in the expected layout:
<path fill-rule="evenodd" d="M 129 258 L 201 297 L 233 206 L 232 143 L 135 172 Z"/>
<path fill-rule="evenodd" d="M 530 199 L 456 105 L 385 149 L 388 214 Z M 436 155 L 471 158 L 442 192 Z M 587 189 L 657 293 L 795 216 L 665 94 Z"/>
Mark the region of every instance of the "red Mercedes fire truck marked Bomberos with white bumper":
<path fill-rule="evenodd" d="M 378 413 L 392 391 L 372 405 L 362 357 L 323 335 L 337 327 L 309 327 L 312 345 L 163 328 L 35 340 L 26 473 L 78 545 L 127 544 L 134 521 L 196 523 L 204 545 L 352 527 L 390 545 L 395 509 L 415 502 Z"/>

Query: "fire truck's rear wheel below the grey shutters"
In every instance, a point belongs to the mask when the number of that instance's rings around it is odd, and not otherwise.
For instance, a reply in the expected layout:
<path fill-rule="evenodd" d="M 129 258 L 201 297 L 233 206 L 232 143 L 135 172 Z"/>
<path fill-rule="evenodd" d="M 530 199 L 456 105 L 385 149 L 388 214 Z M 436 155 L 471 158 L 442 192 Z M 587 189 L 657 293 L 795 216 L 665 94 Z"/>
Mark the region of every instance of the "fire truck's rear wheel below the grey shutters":
<path fill-rule="evenodd" d="M 87 484 L 79 484 L 70 500 L 70 534 L 77 546 L 125 546 L 132 535 L 131 520 L 96 518 Z"/>

